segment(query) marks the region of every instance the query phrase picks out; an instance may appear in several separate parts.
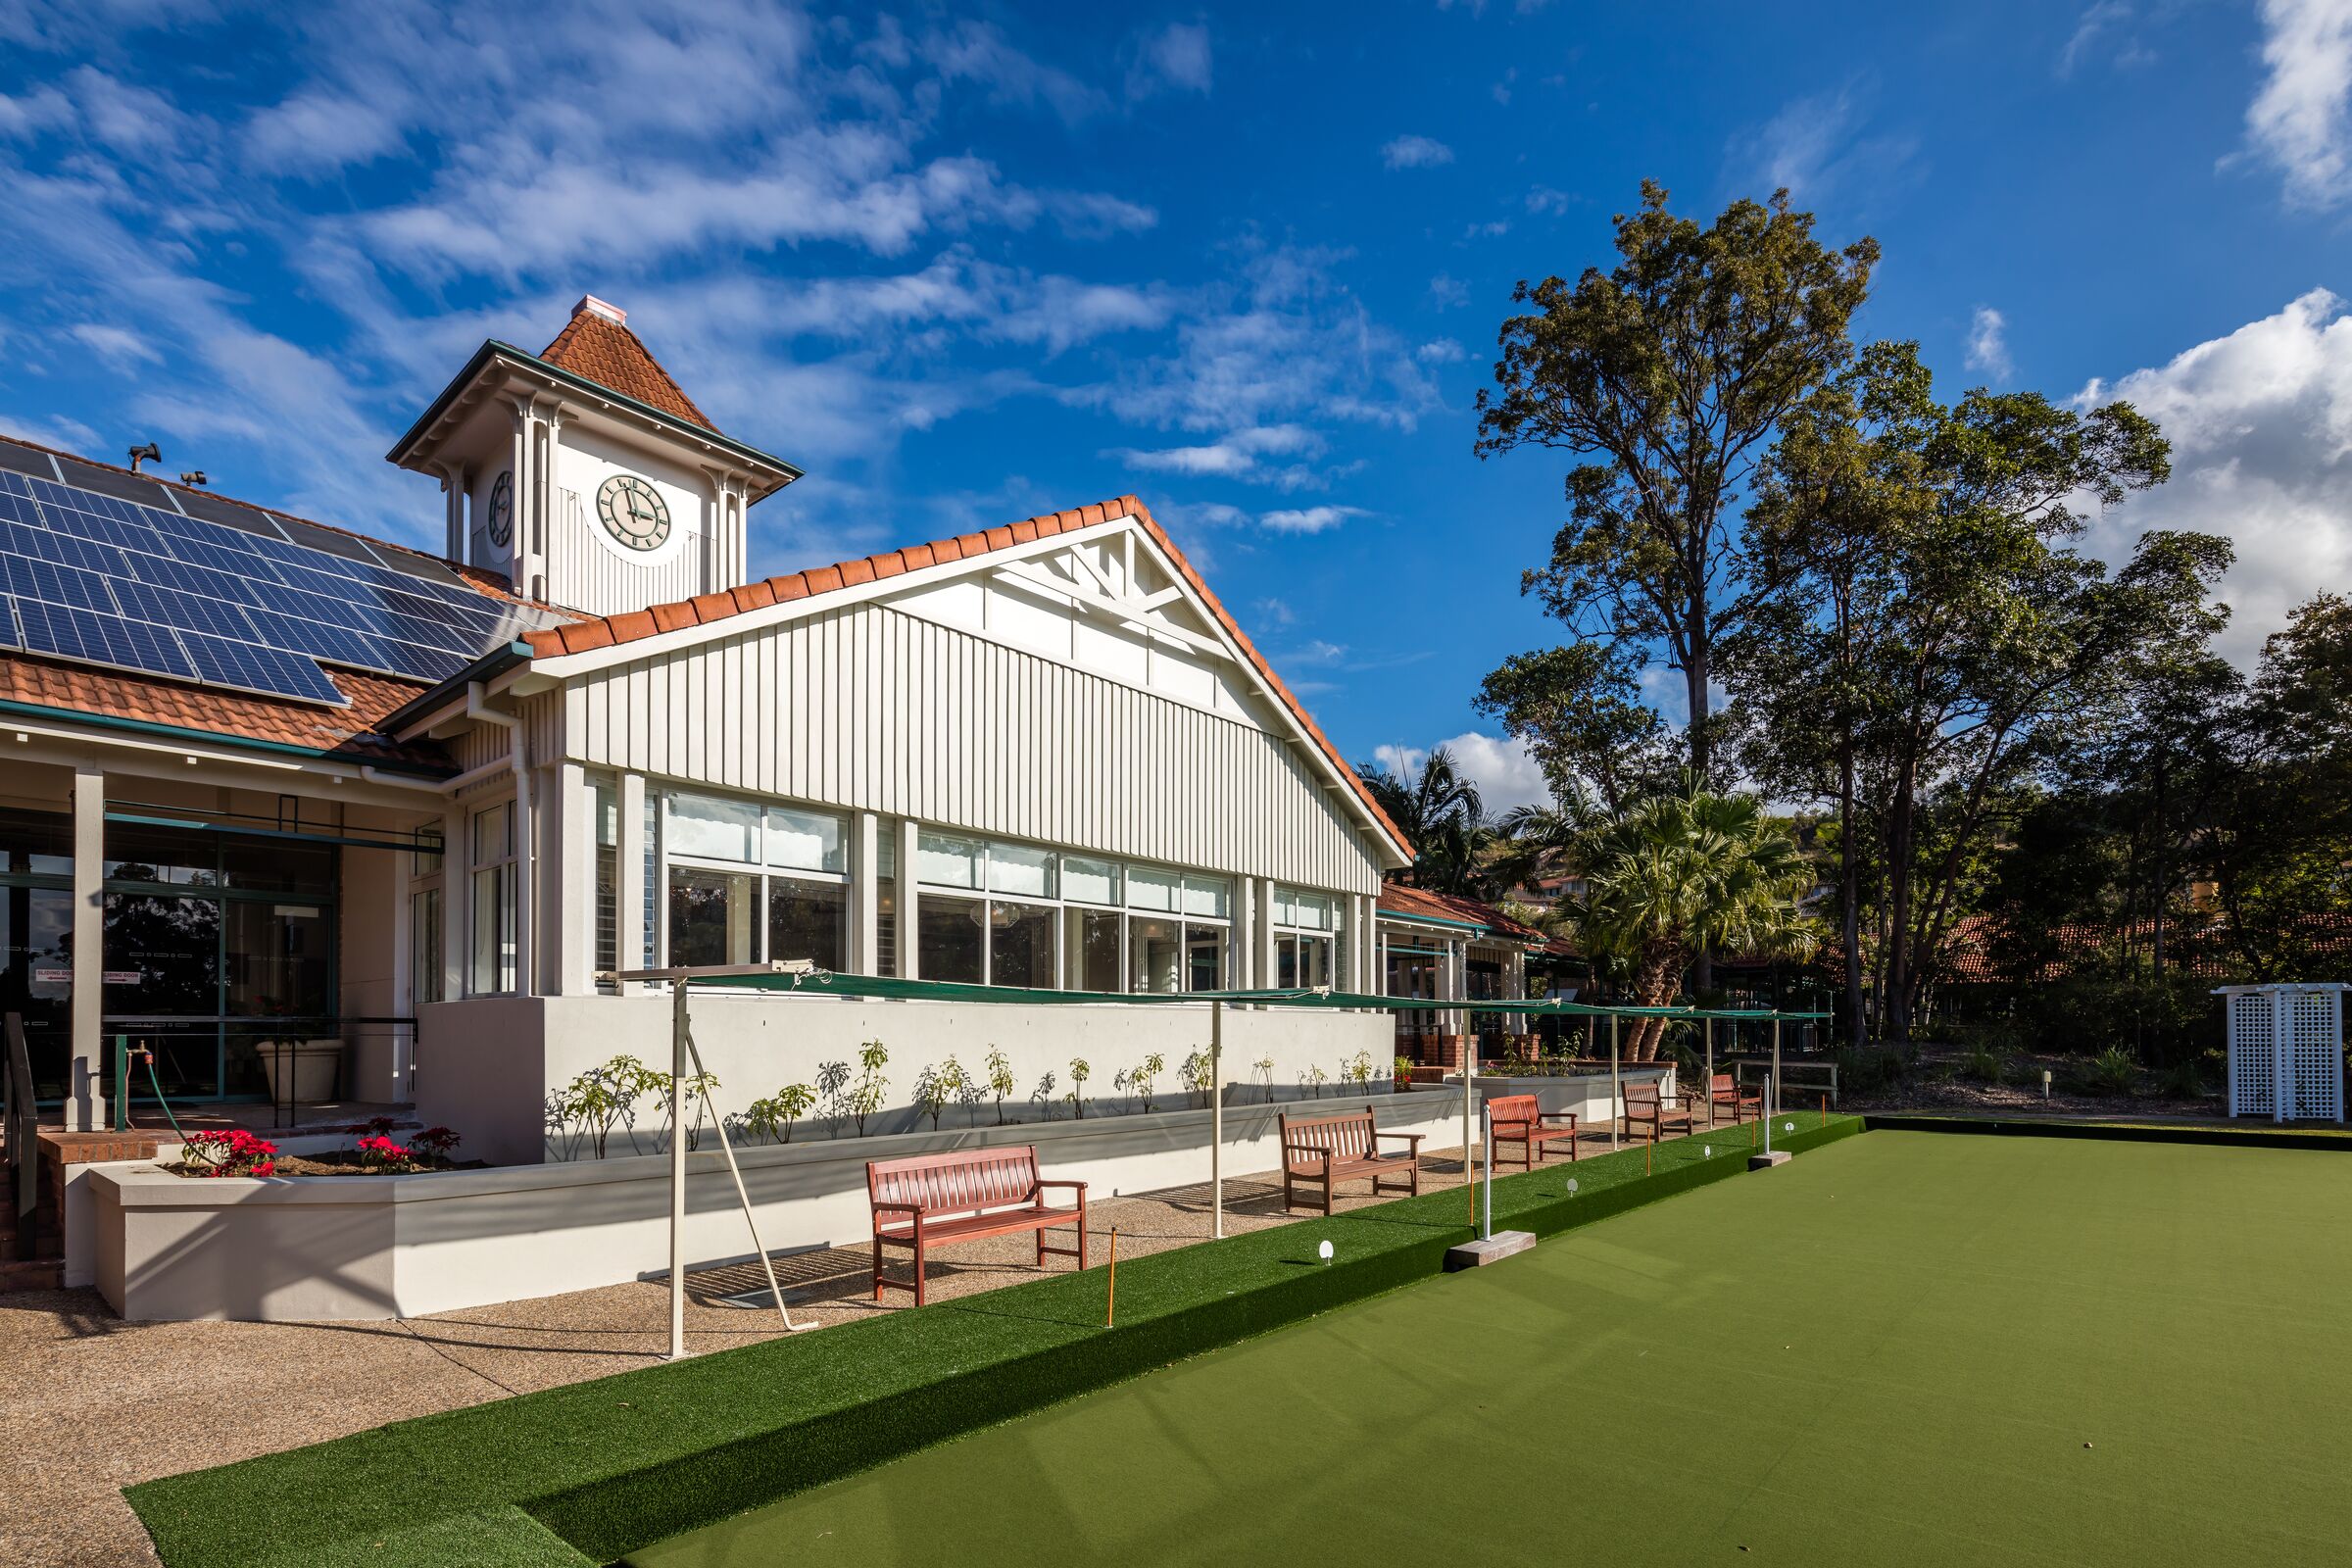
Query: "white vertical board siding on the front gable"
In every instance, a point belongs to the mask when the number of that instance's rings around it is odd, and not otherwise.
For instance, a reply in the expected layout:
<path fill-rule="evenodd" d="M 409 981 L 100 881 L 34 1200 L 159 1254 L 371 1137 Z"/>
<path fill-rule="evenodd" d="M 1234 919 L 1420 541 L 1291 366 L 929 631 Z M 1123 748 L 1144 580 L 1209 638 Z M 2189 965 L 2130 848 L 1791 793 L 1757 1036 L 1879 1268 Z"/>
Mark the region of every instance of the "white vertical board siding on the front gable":
<path fill-rule="evenodd" d="M 1237 719 L 854 604 L 579 677 L 567 757 L 722 790 L 1371 893 L 1345 802 Z"/>

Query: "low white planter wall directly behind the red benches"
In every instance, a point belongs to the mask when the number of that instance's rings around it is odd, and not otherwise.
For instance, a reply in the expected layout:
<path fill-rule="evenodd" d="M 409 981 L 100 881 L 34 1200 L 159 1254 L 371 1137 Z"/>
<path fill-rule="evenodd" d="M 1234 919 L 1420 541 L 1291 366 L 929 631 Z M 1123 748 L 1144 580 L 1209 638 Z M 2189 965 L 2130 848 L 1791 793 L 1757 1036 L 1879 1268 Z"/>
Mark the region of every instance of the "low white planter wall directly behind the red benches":
<path fill-rule="evenodd" d="M 663 1018 L 668 1004 L 659 1004 Z M 701 1001 L 696 999 L 696 1009 Z M 607 1051 L 609 1056 L 609 1051 Z M 597 1058 L 602 1060 L 602 1056 Z M 724 1077 L 724 1067 L 715 1067 Z M 1606 1100 L 1606 1084 L 1602 1088 Z M 1383 1131 L 1461 1145 L 1461 1093 L 1322 1095 L 1225 1107 L 1225 1173 L 1279 1166 L 1275 1114 L 1369 1100 Z M 1037 1145 L 1047 1178 L 1089 1199 L 1209 1180 L 1209 1112 L 1152 1112 L 877 1138 L 800 1138 L 741 1152 L 771 1251 L 861 1244 L 866 1161 Z M 96 1284 L 127 1319 L 386 1319 L 454 1312 L 661 1274 L 670 1166 L 663 1154 L 372 1178 L 191 1180 L 153 1164 L 89 1166 Z M 715 1140 L 687 1157 L 687 1258 L 750 1255 Z M 1207 1204 L 1207 1192 L 1200 1192 Z M 1065 1267 L 1056 1262 L 1054 1267 Z"/>

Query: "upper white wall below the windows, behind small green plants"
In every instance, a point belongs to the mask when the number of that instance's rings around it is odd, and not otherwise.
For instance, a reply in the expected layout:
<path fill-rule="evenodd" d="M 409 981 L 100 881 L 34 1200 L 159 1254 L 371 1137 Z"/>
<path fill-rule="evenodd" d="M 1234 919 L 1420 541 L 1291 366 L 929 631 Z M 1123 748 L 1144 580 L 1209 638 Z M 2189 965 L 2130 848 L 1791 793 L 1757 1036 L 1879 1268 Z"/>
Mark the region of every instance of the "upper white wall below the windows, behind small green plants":
<path fill-rule="evenodd" d="M 816 1084 L 823 1063 L 858 1065 L 858 1048 L 880 1039 L 889 1048 L 884 1110 L 866 1119 L 868 1133 L 903 1133 L 929 1119 L 913 1107 L 915 1079 L 953 1053 L 967 1074 L 985 1077 L 990 1046 L 1004 1051 L 1018 1088 L 1004 1112 L 1040 1124 L 1044 1112 L 1030 1091 L 1054 1074 L 1054 1093 L 1070 1091 L 1070 1060 L 1091 1067 L 1087 1098 L 1103 1112 L 1122 1105 L 1112 1079 L 1157 1051 L 1164 1070 L 1155 1107 L 1188 1100 L 1178 1067 L 1192 1051 L 1209 1048 L 1209 1004 L 1070 1004 L 1014 1006 L 976 1001 L 863 1001 L 849 997 L 781 997 L 748 992 L 696 992 L 694 1041 L 720 1088 L 720 1114 L 734 1114 L 786 1084 Z M 1305 1081 L 1322 1067 L 1336 1093 L 1341 1065 L 1364 1053 L 1385 1079 L 1395 1063 L 1395 1025 L 1388 1013 L 1336 1013 L 1310 1009 L 1225 1009 L 1223 1063 L 1232 1098 L 1308 1098 Z M 614 1056 L 635 1056 L 668 1070 L 670 997 L 477 997 L 419 1009 L 416 1114 L 426 1124 L 463 1135 L 461 1154 L 492 1164 L 562 1159 L 567 1140 L 550 1138 L 548 1095 L 576 1074 Z M 1272 1060 L 1270 1088 L 1254 1063 Z M 993 1105 L 978 1107 L 993 1121 Z M 1068 1119 L 1063 1103 L 1056 1112 Z M 1089 1110 L 1091 1119 L 1094 1110 Z M 943 1126 L 969 1121 L 950 1107 Z M 652 1150 L 663 1107 L 647 1098 L 637 1114 L 637 1150 Z M 821 1107 L 797 1138 L 833 1131 Z M 619 1150 L 633 1145 L 623 1135 Z"/>

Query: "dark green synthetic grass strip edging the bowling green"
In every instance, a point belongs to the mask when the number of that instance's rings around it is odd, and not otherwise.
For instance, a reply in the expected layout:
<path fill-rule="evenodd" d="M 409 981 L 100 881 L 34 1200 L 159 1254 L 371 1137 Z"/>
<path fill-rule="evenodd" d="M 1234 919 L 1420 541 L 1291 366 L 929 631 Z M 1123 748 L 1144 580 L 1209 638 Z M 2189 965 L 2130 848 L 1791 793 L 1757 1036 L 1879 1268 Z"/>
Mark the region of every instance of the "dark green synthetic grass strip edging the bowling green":
<path fill-rule="evenodd" d="M 1858 1117 L 1785 1117 L 1804 1150 Z M 1552 1234 L 1745 1168 L 1752 1128 L 1496 1180 L 1496 1227 Z M 1578 1182 L 1569 1197 L 1566 1180 Z M 543 1540 L 470 1542 L 463 1561 L 539 1568 L 550 1547 L 609 1561 L 927 1443 L 1134 1378 L 1439 1272 L 1468 1239 L 1461 1190 L 1136 1258 L 1120 1324 L 1103 1269 L 894 1312 L 376 1427 L 332 1443 L 125 1488 L 169 1568 L 381 1563 L 440 1519 L 522 1509 Z M 1336 1262 L 1317 1265 L 1331 1239 Z M 541 1554 L 541 1556 L 534 1556 Z M 409 1563 L 440 1561 L 409 1554 Z"/>

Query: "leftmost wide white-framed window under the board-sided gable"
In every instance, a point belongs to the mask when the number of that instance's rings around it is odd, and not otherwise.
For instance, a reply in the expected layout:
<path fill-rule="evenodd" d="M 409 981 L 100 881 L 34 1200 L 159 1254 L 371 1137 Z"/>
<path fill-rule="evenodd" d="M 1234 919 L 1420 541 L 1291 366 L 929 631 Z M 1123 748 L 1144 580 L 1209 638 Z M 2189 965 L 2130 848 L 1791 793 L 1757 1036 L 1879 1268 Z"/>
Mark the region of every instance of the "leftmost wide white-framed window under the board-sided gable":
<path fill-rule="evenodd" d="M 670 964 L 844 966 L 849 842 L 840 816 L 670 795 L 661 823 Z"/>

